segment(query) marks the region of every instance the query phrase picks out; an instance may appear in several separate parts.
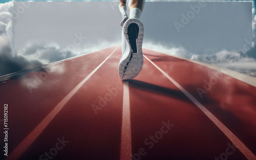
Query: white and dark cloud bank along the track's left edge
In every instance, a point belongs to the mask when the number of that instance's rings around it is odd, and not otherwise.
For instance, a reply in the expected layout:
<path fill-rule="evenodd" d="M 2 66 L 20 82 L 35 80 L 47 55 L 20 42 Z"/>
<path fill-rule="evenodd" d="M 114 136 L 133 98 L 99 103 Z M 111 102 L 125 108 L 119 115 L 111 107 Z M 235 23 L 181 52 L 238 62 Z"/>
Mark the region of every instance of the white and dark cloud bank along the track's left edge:
<path fill-rule="evenodd" d="M 13 2 L 0 4 L 0 76 L 119 44 L 100 38 L 70 49 L 68 45 L 60 47 L 56 42 L 28 42 L 13 54 L 12 11 Z"/>

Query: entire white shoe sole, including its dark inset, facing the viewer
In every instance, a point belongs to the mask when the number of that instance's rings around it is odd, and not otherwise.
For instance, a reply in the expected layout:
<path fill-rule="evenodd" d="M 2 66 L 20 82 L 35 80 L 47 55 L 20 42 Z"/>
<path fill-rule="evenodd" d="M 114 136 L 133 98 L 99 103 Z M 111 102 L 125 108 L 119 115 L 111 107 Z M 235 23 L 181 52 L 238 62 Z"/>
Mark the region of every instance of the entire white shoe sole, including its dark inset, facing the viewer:
<path fill-rule="evenodd" d="M 144 27 L 139 19 L 130 18 L 126 20 L 123 32 L 126 43 L 129 43 L 130 53 L 119 64 L 119 77 L 122 80 L 128 80 L 136 77 L 143 66 L 142 41 Z"/>

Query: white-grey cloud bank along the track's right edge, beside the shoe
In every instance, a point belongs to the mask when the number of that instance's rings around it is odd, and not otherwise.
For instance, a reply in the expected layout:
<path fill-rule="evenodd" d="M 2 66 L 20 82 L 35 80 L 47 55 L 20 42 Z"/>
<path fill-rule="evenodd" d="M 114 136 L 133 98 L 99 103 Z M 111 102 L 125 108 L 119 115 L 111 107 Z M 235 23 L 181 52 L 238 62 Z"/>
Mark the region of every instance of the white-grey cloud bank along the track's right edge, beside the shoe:
<path fill-rule="evenodd" d="M 245 53 L 227 50 L 214 53 L 214 51 L 209 50 L 206 51 L 205 54 L 194 54 L 186 50 L 181 45 L 175 46 L 173 44 L 161 45 L 160 43 L 156 44 L 146 42 L 143 43 L 143 48 L 225 67 L 232 71 L 256 77 L 256 46 Z"/>

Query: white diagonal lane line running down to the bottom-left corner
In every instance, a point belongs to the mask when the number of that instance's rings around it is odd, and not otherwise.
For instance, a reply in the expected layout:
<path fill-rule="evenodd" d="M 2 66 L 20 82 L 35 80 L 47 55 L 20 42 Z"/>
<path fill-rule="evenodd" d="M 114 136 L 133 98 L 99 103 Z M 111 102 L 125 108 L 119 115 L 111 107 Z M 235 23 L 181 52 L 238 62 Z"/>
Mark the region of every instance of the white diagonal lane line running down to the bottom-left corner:
<path fill-rule="evenodd" d="M 116 50 L 118 47 L 116 48 Z M 115 50 L 115 51 L 116 51 Z M 114 52 L 115 52 L 114 51 Z M 114 53 L 113 52 L 113 53 Z M 113 54 L 111 53 L 111 55 Z M 110 56 L 111 56 L 110 55 Z M 109 57 L 107 57 L 99 66 L 93 70 L 86 78 L 84 78 L 71 92 L 63 98 L 54 108 L 53 110 L 46 116 L 44 120 L 42 120 L 30 133 L 29 135 L 8 155 L 6 159 L 18 159 L 26 149 L 35 141 L 35 139 L 40 135 L 40 133 L 48 126 L 48 124 L 53 120 L 53 118 L 57 115 L 57 113 L 65 106 L 65 104 L 71 99 L 72 96 L 77 92 L 77 90 L 98 70 L 98 68 L 106 61 Z"/>

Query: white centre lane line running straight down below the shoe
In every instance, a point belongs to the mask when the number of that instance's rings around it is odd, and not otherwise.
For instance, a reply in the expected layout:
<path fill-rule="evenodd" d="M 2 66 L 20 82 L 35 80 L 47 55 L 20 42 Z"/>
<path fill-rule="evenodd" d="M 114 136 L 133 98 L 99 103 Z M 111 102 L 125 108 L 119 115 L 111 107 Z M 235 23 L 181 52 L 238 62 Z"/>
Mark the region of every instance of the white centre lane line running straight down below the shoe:
<path fill-rule="evenodd" d="M 131 159 L 131 155 L 132 155 L 132 135 L 131 135 L 131 120 L 130 120 L 129 81 L 124 81 L 120 160 Z"/>

